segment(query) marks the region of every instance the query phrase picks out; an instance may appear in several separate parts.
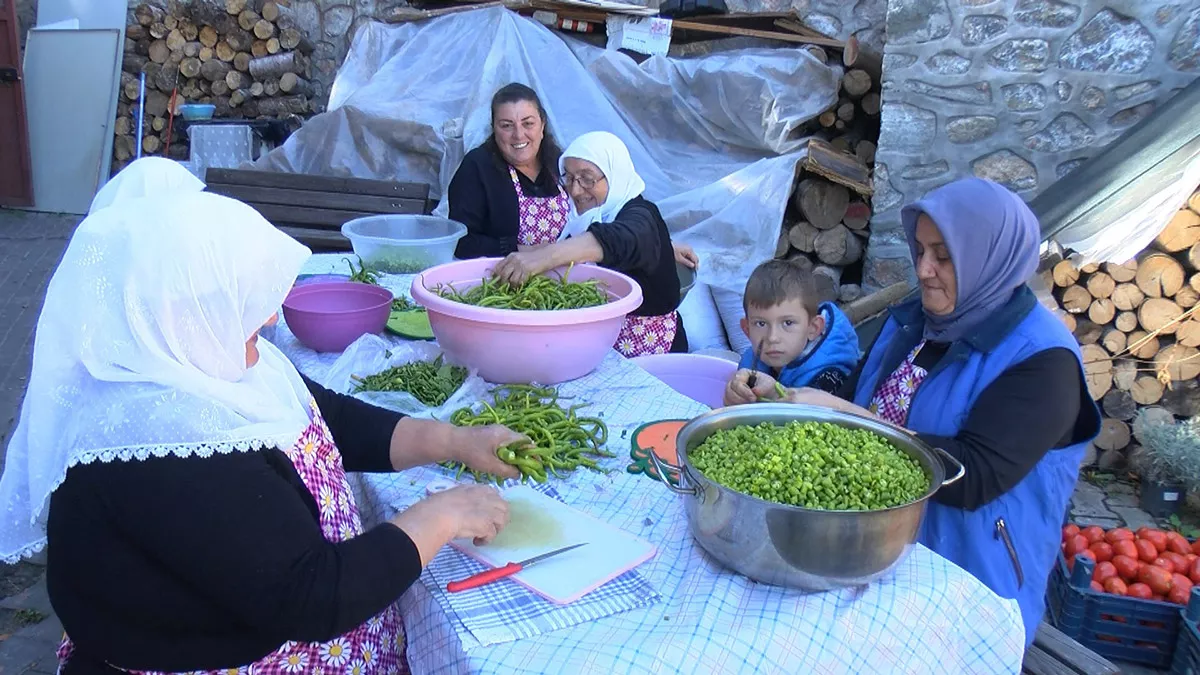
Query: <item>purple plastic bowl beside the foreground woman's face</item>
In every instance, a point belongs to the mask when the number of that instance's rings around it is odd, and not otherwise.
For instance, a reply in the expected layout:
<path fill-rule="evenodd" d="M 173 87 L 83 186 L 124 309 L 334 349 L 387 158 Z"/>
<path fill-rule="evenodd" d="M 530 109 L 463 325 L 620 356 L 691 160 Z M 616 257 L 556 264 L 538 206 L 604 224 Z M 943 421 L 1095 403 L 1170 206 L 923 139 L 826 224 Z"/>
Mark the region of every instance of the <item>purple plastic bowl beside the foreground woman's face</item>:
<path fill-rule="evenodd" d="M 391 299 L 391 291 L 371 283 L 305 283 L 283 300 L 283 319 L 310 350 L 341 352 L 362 335 L 383 330 Z"/>

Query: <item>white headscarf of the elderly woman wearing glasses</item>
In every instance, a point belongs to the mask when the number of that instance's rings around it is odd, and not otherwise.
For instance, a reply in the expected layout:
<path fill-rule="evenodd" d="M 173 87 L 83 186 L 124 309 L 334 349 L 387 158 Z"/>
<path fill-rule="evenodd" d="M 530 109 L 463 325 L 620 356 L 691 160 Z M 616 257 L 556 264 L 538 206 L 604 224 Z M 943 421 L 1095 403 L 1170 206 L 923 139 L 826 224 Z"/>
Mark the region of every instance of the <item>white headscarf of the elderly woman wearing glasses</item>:
<path fill-rule="evenodd" d="M 571 220 L 558 235 L 559 240 L 587 232 L 593 222 L 612 222 L 630 199 L 646 191 L 646 181 L 637 175 L 634 159 L 629 156 L 629 148 L 620 138 L 607 131 L 584 133 L 568 145 L 558 160 L 559 175 L 566 175 L 568 157 L 587 160 L 595 165 L 608 181 L 608 196 L 602 204 L 582 214 L 575 209 L 575 202 L 571 201 Z"/>

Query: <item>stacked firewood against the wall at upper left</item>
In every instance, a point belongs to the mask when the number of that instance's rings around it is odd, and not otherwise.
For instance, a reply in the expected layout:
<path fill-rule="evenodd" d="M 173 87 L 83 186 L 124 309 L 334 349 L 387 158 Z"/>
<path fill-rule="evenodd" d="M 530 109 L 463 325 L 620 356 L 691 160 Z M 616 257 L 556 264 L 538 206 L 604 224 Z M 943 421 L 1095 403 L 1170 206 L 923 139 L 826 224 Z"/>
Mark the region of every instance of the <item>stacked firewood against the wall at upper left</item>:
<path fill-rule="evenodd" d="M 121 98 L 113 171 L 137 154 L 186 159 L 187 138 L 172 124 L 184 103 L 211 103 L 215 118 L 278 118 L 313 112 L 313 43 L 286 0 L 190 0 L 166 8 L 143 2 L 125 29 Z M 145 73 L 142 138 L 137 138 L 139 76 Z"/>

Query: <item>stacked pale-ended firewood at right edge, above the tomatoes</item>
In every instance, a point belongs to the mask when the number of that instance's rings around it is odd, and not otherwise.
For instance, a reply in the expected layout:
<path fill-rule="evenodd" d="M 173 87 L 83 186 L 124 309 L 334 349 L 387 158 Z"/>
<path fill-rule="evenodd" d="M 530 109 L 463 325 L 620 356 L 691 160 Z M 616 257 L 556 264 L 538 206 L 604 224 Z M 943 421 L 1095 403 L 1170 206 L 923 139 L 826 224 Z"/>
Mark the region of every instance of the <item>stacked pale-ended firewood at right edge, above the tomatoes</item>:
<path fill-rule="evenodd" d="M 1102 467 L 1136 450 L 1138 416 L 1200 414 L 1200 190 L 1134 259 L 1079 269 L 1063 261 L 1048 274 L 1104 413 Z"/>

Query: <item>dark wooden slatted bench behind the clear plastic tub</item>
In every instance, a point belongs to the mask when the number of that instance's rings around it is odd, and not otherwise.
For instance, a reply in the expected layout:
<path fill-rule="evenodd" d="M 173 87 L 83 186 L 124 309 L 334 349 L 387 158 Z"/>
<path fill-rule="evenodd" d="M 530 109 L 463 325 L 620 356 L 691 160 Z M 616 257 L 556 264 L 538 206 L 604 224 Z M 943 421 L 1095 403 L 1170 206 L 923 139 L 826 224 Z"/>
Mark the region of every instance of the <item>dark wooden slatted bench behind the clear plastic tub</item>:
<path fill-rule="evenodd" d="M 427 214 L 430 186 L 366 178 L 210 168 L 208 191 L 239 199 L 302 244 L 348 251 L 342 225 L 379 214 Z"/>

